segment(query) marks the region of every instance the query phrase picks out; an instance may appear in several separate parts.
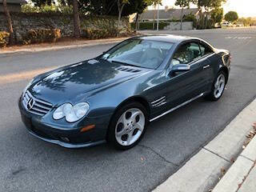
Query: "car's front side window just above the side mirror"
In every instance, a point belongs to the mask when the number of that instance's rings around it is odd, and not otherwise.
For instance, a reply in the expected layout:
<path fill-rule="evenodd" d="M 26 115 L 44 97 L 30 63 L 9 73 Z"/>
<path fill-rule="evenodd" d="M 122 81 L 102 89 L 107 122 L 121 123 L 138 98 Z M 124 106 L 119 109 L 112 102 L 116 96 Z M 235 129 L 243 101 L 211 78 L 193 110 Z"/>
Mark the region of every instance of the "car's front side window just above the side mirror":
<path fill-rule="evenodd" d="M 193 62 L 195 59 L 201 57 L 201 51 L 198 43 L 190 42 L 186 43 L 178 48 L 174 54 L 172 64 L 188 64 Z"/>

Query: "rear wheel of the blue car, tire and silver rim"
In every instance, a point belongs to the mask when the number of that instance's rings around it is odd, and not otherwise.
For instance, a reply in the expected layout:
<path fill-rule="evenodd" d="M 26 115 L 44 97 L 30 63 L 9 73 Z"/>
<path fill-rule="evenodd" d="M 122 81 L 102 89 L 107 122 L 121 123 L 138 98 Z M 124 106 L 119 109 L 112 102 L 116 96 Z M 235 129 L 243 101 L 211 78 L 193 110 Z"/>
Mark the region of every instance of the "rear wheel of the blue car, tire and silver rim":
<path fill-rule="evenodd" d="M 206 95 L 205 98 L 210 101 L 218 101 L 218 99 L 222 98 L 226 87 L 226 80 L 227 74 L 223 70 L 219 71 L 214 79 L 210 94 Z"/>

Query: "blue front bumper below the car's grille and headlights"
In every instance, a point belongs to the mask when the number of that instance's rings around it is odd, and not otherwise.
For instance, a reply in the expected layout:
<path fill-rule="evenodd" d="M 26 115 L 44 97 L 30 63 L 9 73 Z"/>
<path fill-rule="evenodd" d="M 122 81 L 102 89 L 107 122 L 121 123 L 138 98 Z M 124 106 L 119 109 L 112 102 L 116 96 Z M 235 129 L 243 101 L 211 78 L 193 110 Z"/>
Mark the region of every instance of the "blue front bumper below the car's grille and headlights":
<path fill-rule="evenodd" d="M 94 124 L 93 130 L 80 132 L 80 127 L 65 128 L 61 126 L 51 125 L 47 122 L 47 118 L 31 114 L 18 101 L 19 110 L 27 130 L 36 138 L 40 138 L 45 142 L 51 142 L 66 148 L 80 148 L 86 146 L 95 146 L 106 142 L 106 131 L 110 121 L 110 115 L 101 118 L 86 119 L 83 125 Z M 68 123 L 68 122 L 66 122 Z"/>

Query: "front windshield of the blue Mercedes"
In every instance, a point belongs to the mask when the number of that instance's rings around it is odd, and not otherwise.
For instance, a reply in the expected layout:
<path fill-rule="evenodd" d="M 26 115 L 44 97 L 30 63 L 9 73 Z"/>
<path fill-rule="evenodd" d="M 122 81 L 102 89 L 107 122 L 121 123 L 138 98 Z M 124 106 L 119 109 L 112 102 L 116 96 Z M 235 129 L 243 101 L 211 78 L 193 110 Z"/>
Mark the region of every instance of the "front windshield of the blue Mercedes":
<path fill-rule="evenodd" d="M 156 69 L 173 45 L 171 42 L 129 39 L 103 54 L 102 58 L 123 65 Z"/>

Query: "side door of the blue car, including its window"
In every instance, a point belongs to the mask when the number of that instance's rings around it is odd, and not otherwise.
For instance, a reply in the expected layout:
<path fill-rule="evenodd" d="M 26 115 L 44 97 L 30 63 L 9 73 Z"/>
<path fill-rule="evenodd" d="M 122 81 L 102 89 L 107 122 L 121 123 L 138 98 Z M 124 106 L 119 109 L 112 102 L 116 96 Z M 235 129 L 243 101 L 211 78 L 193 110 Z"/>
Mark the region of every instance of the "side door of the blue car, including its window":
<path fill-rule="evenodd" d="M 172 73 L 176 64 L 190 65 L 190 70 Z M 198 41 L 185 42 L 174 52 L 170 62 L 170 73 L 166 87 L 167 107 L 178 106 L 206 90 L 206 70 L 209 61 L 202 58 Z"/>

